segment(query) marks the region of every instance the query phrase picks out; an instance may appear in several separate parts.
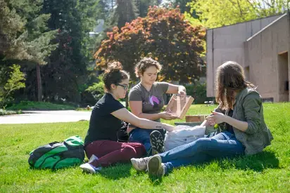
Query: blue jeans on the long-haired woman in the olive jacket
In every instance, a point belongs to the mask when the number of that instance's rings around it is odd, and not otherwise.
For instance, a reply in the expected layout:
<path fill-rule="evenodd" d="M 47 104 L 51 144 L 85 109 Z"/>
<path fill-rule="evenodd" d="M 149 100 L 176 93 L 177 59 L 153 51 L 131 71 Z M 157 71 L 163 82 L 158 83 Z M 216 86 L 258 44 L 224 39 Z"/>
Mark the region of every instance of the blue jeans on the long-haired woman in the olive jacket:
<path fill-rule="evenodd" d="M 233 133 L 224 131 L 213 138 L 199 138 L 159 155 L 165 164 L 165 173 L 169 173 L 173 168 L 179 166 L 243 155 L 244 150 L 244 145 L 237 140 Z"/>

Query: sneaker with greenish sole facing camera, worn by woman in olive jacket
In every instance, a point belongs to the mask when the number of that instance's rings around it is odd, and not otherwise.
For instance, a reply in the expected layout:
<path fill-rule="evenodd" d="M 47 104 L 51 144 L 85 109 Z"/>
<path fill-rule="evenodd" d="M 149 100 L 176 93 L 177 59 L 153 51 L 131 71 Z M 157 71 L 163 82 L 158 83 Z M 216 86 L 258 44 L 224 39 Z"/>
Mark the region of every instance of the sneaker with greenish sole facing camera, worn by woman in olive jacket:
<path fill-rule="evenodd" d="M 148 173 L 151 176 L 160 178 L 165 175 L 165 165 L 162 163 L 161 157 L 159 155 L 154 155 L 149 159 L 147 168 Z"/>

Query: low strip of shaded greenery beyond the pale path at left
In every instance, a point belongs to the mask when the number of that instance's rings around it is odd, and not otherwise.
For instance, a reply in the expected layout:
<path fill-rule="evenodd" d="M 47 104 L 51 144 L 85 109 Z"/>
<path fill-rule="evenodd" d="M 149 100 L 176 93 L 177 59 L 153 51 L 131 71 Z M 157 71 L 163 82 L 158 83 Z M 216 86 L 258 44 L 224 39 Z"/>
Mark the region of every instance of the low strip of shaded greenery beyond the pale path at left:
<path fill-rule="evenodd" d="M 51 102 L 21 101 L 7 107 L 8 110 L 74 110 L 71 105 L 58 105 Z"/>

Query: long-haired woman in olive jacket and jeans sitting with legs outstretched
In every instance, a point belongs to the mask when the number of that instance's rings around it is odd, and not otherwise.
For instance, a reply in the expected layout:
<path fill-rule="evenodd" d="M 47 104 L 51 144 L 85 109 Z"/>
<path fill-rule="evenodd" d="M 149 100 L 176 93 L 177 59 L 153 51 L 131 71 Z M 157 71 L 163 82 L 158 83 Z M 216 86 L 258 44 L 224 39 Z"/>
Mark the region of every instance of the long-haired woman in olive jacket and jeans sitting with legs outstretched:
<path fill-rule="evenodd" d="M 262 99 L 255 86 L 245 81 L 243 68 L 237 62 L 225 62 L 216 77 L 219 106 L 201 126 L 225 123 L 225 131 L 153 157 L 131 159 L 134 168 L 162 177 L 178 166 L 257 154 L 270 145 L 273 138 L 264 121 Z"/>

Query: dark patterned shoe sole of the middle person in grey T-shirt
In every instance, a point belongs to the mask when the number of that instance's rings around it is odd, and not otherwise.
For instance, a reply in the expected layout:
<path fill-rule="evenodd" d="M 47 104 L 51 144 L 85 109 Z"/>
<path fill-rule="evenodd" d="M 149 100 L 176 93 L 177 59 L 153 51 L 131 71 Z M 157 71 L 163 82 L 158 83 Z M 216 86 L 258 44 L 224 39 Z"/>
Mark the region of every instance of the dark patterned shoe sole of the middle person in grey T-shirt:
<path fill-rule="evenodd" d="M 164 139 L 159 131 L 153 131 L 150 134 L 151 153 L 152 155 L 164 152 Z"/>

